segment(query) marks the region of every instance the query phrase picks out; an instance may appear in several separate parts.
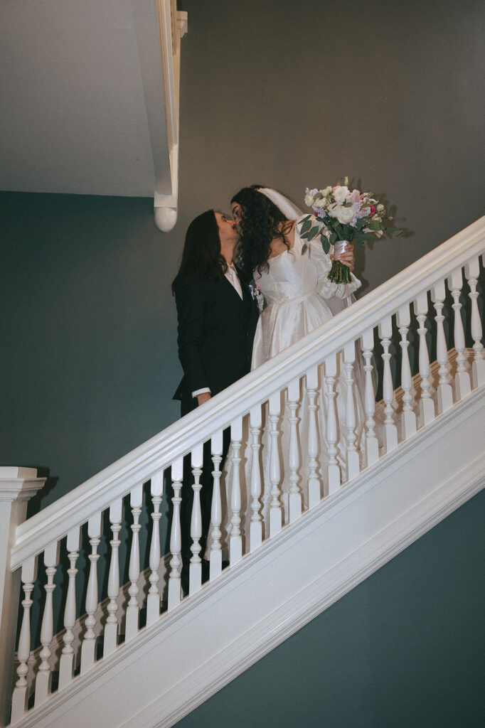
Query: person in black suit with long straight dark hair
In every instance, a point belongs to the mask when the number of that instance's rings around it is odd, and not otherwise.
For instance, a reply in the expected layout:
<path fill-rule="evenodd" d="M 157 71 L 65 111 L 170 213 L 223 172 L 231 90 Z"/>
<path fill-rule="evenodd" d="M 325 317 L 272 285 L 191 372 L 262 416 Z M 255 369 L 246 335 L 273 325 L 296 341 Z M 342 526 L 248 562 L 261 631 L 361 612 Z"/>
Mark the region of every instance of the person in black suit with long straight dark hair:
<path fill-rule="evenodd" d="M 251 352 L 258 320 L 258 306 L 248 283 L 240 278 L 232 258 L 239 240 L 234 221 L 208 210 L 190 223 L 186 232 L 181 266 L 173 281 L 178 317 L 178 356 L 184 376 L 175 399 L 181 400 L 181 415 L 187 414 L 218 394 L 251 369 Z M 229 449 L 229 430 L 224 433 L 223 461 Z M 201 511 L 201 555 L 210 524 L 213 479 L 210 443 L 204 448 Z M 189 457 L 182 488 L 182 588 L 188 591 L 192 472 Z M 208 577 L 202 560 L 202 579 Z"/>

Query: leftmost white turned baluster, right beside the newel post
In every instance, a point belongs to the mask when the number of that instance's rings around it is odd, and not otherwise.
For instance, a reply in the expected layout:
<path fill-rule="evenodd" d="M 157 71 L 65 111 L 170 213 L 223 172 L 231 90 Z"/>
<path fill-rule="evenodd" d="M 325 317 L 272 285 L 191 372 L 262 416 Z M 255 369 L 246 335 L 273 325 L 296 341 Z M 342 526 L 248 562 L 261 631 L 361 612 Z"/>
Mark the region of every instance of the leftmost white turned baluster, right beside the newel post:
<path fill-rule="evenodd" d="M 31 593 L 37 578 L 37 557 L 33 556 L 22 565 L 22 583 L 24 598 L 22 601 L 22 626 L 17 650 L 17 682 L 12 695 L 11 723 L 17 723 L 27 711 L 28 703 L 28 658 L 31 654 Z"/>

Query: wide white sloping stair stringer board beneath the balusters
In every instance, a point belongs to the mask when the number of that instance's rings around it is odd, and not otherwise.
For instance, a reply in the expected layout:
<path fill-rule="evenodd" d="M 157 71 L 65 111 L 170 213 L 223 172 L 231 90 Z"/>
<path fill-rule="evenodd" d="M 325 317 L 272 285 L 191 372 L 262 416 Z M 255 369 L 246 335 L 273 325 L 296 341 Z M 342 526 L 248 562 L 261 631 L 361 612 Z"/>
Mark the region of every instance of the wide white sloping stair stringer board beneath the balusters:
<path fill-rule="evenodd" d="M 170 727 L 485 485 L 485 387 L 15 726 Z"/>

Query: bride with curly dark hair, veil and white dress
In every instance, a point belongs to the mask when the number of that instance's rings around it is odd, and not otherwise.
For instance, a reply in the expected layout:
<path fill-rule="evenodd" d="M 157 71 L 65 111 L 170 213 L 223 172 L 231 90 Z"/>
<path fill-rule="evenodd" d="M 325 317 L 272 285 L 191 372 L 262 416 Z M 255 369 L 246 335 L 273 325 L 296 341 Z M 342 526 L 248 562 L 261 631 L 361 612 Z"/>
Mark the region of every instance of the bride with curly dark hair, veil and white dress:
<path fill-rule="evenodd" d="M 350 296 L 360 287 L 360 281 L 351 274 L 349 284 L 336 284 L 328 280 L 331 268 L 331 256 L 324 253 L 320 242 L 310 242 L 309 250 L 302 253 L 303 241 L 300 237 L 301 212 L 293 203 L 275 190 L 266 188 L 243 188 L 232 199 L 232 214 L 240 226 L 241 253 L 240 265 L 243 273 L 251 275 L 264 295 L 265 307 L 259 317 L 256 336 L 253 344 L 251 368 L 255 369 L 286 347 L 299 341 L 310 331 L 325 323 L 350 303 Z M 295 219 L 296 218 L 296 219 Z M 344 253 L 339 258 L 342 263 L 353 268 L 353 252 Z M 320 434 L 319 478 L 326 491 L 326 397 L 323 392 L 323 372 L 319 368 L 318 387 L 318 428 Z M 347 386 L 344 378 L 340 356 L 338 357 L 338 373 L 336 381 L 336 404 L 339 416 L 339 440 L 337 455 L 342 472 L 345 472 L 346 432 L 345 432 L 345 400 Z M 365 419 L 363 409 L 363 369 L 360 356 L 356 357 L 354 371 L 355 380 L 355 432 L 359 440 Z M 301 399 L 298 411 L 299 436 L 301 443 L 306 443 L 308 430 L 307 392 L 304 380 L 301 383 Z M 281 417 L 278 426 L 280 432 L 280 452 L 288 453 L 289 416 L 288 400 L 282 395 Z M 246 418 L 247 419 L 247 418 Z M 248 423 L 246 423 L 247 426 Z M 246 430 L 247 432 L 247 430 Z M 242 462 L 249 483 L 252 451 L 249 439 L 244 438 L 248 446 L 242 452 Z M 243 440 L 244 441 L 244 440 Z M 261 514 L 265 526 L 264 537 L 269 535 L 269 448 L 267 446 L 267 429 L 264 427 L 261 438 L 261 462 L 264 473 L 264 491 L 261 495 Z M 232 482 L 232 463 L 229 456 L 226 460 L 226 498 L 230 504 L 230 484 Z M 281 458 L 280 492 L 284 508 L 284 523 L 288 523 L 288 464 Z M 300 487 L 303 505 L 307 507 L 308 493 L 306 484 L 308 472 L 305 466 L 307 458 L 300 456 Z M 251 507 L 248 488 L 242 488 L 241 531 L 245 535 L 245 551 L 249 550 L 249 524 Z M 230 516 L 226 522 L 226 531 L 230 532 Z"/>

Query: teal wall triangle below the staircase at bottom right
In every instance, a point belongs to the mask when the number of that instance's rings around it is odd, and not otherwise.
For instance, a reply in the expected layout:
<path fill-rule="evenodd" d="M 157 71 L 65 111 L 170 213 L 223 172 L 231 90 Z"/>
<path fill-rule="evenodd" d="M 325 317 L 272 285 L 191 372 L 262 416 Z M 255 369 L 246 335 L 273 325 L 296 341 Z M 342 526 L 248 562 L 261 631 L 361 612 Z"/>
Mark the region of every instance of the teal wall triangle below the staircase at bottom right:
<path fill-rule="evenodd" d="M 483 728 L 485 491 L 176 728 Z"/>

